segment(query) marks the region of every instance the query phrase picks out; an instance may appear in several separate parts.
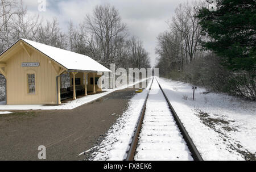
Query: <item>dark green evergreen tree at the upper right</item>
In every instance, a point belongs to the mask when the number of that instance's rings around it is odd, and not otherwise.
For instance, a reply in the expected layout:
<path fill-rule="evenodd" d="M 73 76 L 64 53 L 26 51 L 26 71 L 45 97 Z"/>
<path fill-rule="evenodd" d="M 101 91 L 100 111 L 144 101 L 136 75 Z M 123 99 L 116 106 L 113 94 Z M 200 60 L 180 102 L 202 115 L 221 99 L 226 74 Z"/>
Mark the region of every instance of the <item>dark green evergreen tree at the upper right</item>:
<path fill-rule="evenodd" d="M 255 74 L 256 1 L 220 0 L 216 7 L 203 7 L 197 15 L 203 35 L 209 37 L 203 46 L 220 56 L 228 69 Z"/>

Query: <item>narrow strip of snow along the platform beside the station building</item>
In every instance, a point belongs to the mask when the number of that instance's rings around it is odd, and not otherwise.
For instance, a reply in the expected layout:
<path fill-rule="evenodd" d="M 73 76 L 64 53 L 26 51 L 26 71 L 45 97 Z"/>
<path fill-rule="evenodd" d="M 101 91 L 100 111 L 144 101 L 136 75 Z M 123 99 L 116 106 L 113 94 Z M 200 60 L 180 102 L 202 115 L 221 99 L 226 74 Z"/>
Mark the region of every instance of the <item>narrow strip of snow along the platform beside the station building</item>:
<path fill-rule="evenodd" d="M 29 105 L 5 105 L 5 102 L 0 102 L 0 110 L 72 110 L 73 108 L 79 107 L 82 104 L 92 102 L 93 100 L 96 100 L 98 98 L 104 97 L 105 95 L 108 95 L 112 93 L 113 91 L 126 89 L 127 87 L 133 86 L 136 83 L 143 82 L 147 78 L 142 79 L 141 81 L 136 81 L 133 84 L 126 85 L 126 86 L 120 86 L 115 89 L 106 89 L 102 91 L 105 91 L 104 93 L 98 93 L 93 95 L 87 95 L 86 97 L 82 97 L 76 100 L 71 100 L 68 103 L 63 103 L 58 106 L 52 105 L 52 106 L 45 106 L 45 105 L 39 105 L 39 104 L 29 104 Z"/>

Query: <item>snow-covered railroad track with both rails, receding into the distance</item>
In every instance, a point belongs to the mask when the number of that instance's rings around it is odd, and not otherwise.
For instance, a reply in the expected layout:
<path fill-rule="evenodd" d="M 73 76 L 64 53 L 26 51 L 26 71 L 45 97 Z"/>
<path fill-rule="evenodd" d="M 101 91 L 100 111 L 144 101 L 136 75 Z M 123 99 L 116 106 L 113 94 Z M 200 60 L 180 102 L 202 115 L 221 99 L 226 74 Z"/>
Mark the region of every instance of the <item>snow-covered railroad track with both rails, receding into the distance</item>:
<path fill-rule="evenodd" d="M 203 161 L 156 78 L 152 79 L 126 161 Z"/>

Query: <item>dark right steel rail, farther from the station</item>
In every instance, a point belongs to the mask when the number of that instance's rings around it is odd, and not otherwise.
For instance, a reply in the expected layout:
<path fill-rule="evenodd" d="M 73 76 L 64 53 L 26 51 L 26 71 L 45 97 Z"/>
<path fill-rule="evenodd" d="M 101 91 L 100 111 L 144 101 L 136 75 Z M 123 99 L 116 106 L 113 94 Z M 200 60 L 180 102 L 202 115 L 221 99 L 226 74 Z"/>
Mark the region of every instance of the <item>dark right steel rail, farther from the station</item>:
<path fill-rule="evenodd" d="M 158 79 L 156 79 L 156 81 L 158 82 Z M 199 151 L 197 150 L 195 144 L 193 143 L 191 137 L 188 135 L 188 132 L 185 129 L 183 123 L 181 123 L 181 121 L 179 119 L 179 116 L 177 116 L 177 114 L 174 110 L 174 107 L 172 107 L 169 99 L 167 98 L 166 94 L 164 93 L 164 91 L 163 91 L 162 87 L 160 86 L 159 82 L 158 82 L 158 85 L 159 85 L 160 89 L 162 90 L 162 93 L 163 93 L 164 97 L 166 98 L 166 101 L 168 102 L 168 105 L 170 107 L 172 115 L 174 116 L 176 124 L 177 124 L 178 128 L 180 129 L 181 135 L 183 135 L 184 140 L 187 142 L 188 149 L 190 150 L 190 152 L 192 154 L 191 156 L 193 157 L 193 159 L 195 161 L 204 161 L 203 158 L 201 157 Z"/>

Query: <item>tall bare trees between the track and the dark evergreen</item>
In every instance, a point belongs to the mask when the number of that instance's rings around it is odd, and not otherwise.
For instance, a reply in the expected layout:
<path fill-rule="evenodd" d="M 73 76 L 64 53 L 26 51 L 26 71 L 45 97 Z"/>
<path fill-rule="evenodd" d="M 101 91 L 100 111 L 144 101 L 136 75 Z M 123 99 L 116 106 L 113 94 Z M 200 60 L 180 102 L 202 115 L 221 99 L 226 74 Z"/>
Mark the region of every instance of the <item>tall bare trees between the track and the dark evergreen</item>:
<path fill-rule="evenodd" d="M 177 6 L 175 15 L 168 22 L 169 30 L 158 36 L 158 68 L 163 75 L 181 72 L 184 67 L 201 58 L 204 53 L 200 47 L 201 34 L 197 9 L 202 2 L 184 3 Z"/>

